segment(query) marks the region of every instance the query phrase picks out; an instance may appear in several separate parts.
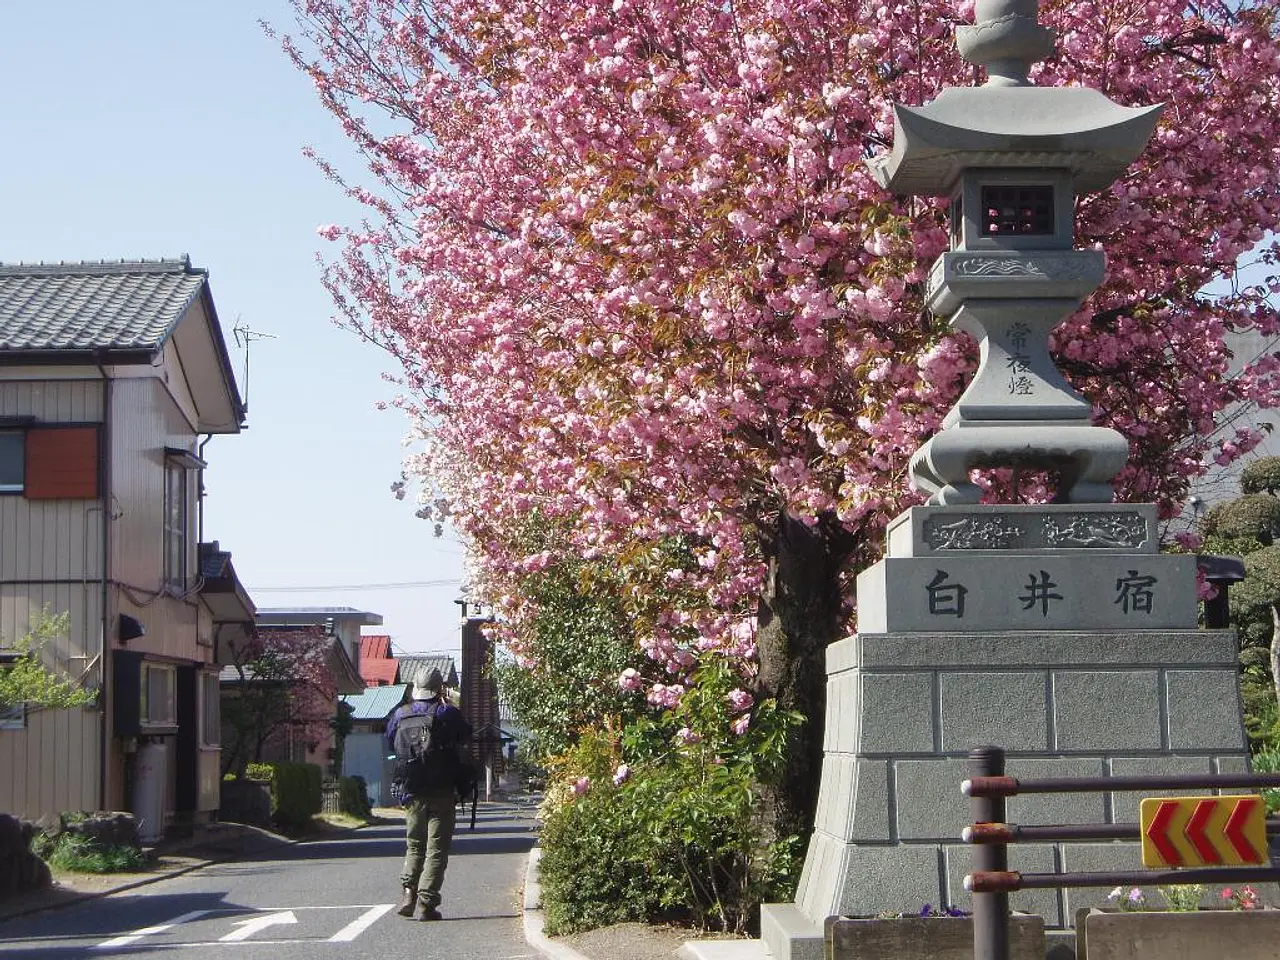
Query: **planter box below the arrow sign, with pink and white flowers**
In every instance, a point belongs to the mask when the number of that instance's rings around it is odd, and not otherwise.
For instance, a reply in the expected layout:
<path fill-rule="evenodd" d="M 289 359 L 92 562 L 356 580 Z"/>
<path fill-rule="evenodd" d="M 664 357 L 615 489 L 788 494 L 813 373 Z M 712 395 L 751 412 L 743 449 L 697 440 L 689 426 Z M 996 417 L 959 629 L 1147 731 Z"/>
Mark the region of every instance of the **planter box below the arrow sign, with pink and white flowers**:
<path fill-rule="evenodd" d="M 1076 960 L 1276 960 L 1280 910 L 1091 910 L 1075 941 Z"/>

